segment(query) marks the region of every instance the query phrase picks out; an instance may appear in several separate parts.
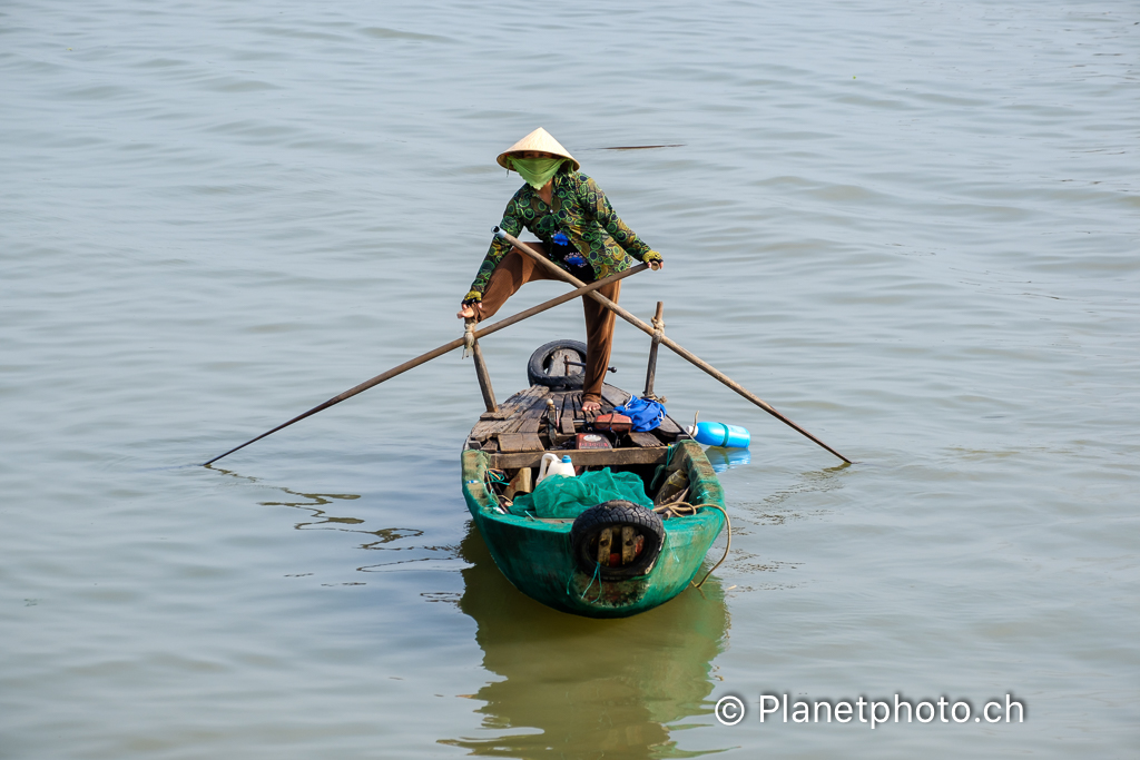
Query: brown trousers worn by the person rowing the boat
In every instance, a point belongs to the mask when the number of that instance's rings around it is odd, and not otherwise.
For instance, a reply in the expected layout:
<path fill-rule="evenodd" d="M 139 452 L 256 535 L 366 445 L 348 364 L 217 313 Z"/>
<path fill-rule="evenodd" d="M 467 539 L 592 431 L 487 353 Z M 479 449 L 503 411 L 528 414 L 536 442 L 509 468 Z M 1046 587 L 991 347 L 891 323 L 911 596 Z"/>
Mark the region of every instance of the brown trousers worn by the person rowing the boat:
<path fill-rule="evenodd" d="M 544 250 L 542 243 L 528 243 L 534 248 Z M 543 279 L 556 279 L 534 259 L 512 248 L 499 260 L 498 267 L 491 272 L 483 292 L 482 308 L 475 309 L 478 319 L 487 319 L 498 311 L 506 300 L 519 292 L 524 283 Z M 597 292 L 614 303 L 621 294 L 621 283 L 610 283 Z M 605 381 L 605 368 L 610 363 L 610 349 L 613 348 L 613 312 L 594 301 L 581 299 L 586 312 L 586 376 L 583 378 L 583 400 L 601 401 L 602 383 Z"/>

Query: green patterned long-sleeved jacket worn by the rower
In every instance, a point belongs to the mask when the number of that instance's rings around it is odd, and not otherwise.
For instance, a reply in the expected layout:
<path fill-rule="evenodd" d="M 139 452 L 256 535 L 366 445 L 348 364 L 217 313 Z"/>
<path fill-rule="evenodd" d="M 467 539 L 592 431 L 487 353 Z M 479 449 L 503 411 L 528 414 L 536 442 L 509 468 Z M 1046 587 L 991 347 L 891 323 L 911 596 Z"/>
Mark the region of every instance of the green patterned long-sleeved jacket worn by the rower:
<path fill-rule="evenodd" d="M 618 218 L 597 183 L 568 165 L 554 175 L 551 199 L 553 205 L 547 206 L 537 190 L 523 185 L 506 204 L 499 227 L 514 236 L 526 227 L 546 243 L 547 248 L 552 247 L 551 238 L 563 232 L 586 256 L 597 279 L 629 269 L 629 256 L 641 261 L 652 250 Z M 495 238 L 491 242 L 471 284 L 472 291 L 483 293 L 487 289 L 491 272 L 510 250 L 511 244 L 506 240 Z M 564 262 L 553 258 L 552 261 L 567 269 Z"/>

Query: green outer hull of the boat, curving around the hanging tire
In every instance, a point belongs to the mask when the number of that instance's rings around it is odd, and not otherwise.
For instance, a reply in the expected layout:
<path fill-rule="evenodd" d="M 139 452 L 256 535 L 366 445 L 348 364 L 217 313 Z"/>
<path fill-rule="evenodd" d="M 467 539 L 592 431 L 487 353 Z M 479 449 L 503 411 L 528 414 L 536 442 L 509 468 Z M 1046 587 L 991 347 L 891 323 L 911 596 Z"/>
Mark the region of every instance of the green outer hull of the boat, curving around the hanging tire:
<path fill-rule="evenodd" d="M 685 467 L 692 504 L 724 507 L 724 492 L 694 441 L 678 441 L 671 466 Z M 627 618 L 661 605 L 683 591 L 701 570 L 712 541 L 724 528 L 720 509 L 663 521 L 665 541 L 649 572 L 627 580 L 605 580 L 583 572 L 570 547 L 572 521 L 539 521 L 502 513 L 483 485 L 488 456 L 463 452 L 463 495 L 495 564 L 520 591 L 545 605 L 589 618 Z"/>

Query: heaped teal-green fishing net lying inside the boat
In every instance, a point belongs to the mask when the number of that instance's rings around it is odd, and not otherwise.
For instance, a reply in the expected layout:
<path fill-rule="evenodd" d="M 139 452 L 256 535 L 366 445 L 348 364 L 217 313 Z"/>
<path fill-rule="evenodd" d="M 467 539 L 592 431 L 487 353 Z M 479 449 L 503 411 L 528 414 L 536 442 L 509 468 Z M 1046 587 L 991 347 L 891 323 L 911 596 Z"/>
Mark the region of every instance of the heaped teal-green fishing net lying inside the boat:
<path fill-rule="evenodd" d="M 520 493 L 511 512 L 536 517 L 572 520 L 594 505 L 610 499 L 626 499 L 652 509 L 645 484 L 633 473 L 610 472 L 609 467 L 584 472 L 577 477 L 551 475 L 535 487 L 534 493 Z"/>

